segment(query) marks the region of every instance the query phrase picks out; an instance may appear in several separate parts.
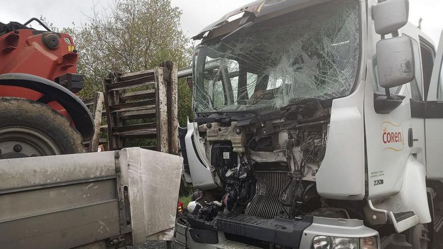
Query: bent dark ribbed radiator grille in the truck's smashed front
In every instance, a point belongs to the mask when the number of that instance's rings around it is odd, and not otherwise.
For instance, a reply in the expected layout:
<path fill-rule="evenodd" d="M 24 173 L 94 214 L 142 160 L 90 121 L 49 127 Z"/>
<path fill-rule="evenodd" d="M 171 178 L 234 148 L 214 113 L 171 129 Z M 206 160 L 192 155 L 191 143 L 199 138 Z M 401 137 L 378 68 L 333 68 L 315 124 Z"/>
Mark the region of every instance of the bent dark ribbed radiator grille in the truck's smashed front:
<path fill-rule="evenodd" d="M 255 176 L 257 178 L 256 193 L 246 207 L 245 214 L 272 219 L 279 211 L 285 210 L 278 201 L 278 197 L 288 181 L 287 172 L 256 171 Z"/>

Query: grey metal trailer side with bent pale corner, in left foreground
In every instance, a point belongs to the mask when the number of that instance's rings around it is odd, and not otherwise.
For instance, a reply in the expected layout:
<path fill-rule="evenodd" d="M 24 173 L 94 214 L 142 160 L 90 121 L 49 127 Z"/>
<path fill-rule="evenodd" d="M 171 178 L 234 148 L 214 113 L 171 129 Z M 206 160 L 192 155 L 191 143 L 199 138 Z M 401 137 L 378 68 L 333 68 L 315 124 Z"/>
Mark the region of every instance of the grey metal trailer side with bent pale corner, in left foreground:
<path fill-rule="evenodd" d="M 0 248 L 171 240 L 179 156 L 141 148 L 0 160 Z"/>

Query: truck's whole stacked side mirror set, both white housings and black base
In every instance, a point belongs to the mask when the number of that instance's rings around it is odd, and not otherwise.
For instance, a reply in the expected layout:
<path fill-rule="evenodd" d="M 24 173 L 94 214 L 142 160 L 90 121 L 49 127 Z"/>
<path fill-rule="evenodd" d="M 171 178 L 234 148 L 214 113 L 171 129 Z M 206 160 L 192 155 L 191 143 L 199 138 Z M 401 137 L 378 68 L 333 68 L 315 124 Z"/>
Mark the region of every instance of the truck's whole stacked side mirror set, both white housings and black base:
<path fill-rule="evenodd" d="M 414 48 L 408 37 L 399 37 L 399 29 L 408 23 L 409 0 L 379 0 L 372 8 L 375 31 L 382 37 L 377 42 L 377 71 L 386 96 L 374 95 L 377 113 L 388 114 L 401 105 L 404 97 L 391 96 L 390 88 L 404 85 L 415 78 Z M 386 39 L 386 35 L 392 38 Z"/>

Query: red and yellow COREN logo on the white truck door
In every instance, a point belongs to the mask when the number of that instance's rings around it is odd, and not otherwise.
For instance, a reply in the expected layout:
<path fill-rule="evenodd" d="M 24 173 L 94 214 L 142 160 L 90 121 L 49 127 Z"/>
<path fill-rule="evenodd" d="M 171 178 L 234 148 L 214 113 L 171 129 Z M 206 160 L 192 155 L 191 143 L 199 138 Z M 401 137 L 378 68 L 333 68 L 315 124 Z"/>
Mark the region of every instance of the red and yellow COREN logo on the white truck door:
<path fill-rule="evenodd" d="M 391 122 L 382 123 L 382 150 L 400 151 L 405 147 L 403 128 Z"/>

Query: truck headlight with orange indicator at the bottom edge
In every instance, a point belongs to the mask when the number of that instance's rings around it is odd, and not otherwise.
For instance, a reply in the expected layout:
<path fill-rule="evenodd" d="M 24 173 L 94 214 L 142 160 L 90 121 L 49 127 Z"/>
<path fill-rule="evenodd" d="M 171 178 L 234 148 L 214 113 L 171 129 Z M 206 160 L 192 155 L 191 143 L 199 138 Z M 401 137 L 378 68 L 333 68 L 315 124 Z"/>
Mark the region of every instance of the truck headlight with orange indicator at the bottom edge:
<path fill-rule="evenodd" d="M 346 238 L 318 235 L 312 241 L 312 249 L 378 249 L 377 236 Z"/>

